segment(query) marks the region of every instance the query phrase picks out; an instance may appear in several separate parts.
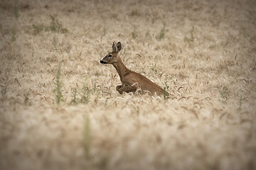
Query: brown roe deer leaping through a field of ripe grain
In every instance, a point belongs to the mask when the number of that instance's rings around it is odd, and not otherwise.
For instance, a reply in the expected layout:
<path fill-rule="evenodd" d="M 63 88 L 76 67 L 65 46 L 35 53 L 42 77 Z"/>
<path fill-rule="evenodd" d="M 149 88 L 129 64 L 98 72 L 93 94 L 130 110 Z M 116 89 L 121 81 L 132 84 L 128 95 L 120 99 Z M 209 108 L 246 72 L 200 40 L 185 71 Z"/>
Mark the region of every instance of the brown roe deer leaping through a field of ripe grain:
<path fill-rule="evenodd" d="M 100 63 L 112 64 L 114 68 L 117 69 L 117 73 L 119 74 L 122 82 L 122 85 L 119 85 L 116 88 L 119 94 L 122 94 L 123 91 L 129 93 L 141 89 L 142 91 L 149 91 L 151 95 L 161 94 L 169 96 L 169 93 L 167 91 L 162 89 L 160 86 L 154 84 L 142 74 L 127 69 L 127 67 L 124 66 L 124 63 L 118 55 L 118 52 L 121 50 L 121 48 L 121 42 L 113 42 L 112 52 L 108 53 L 106 57 L 100 60 Z"/>

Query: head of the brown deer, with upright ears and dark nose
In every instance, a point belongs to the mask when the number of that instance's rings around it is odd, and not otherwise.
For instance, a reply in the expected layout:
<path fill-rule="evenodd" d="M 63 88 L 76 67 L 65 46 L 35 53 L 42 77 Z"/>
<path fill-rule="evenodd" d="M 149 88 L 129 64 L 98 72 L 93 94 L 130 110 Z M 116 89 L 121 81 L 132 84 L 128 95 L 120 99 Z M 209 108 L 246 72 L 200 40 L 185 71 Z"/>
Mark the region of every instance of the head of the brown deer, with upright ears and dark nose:
<path fill-rule="evenodd" d="M 113 42 L 112 45 L 112 52 L 108 53 L 102 60 L 100 60 L 100 63 L 102 64 L 113 64 L 117 62 L 118 59 L 118 52 L 122 49 L 121 42 Z"/>

